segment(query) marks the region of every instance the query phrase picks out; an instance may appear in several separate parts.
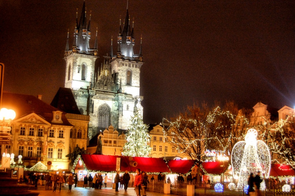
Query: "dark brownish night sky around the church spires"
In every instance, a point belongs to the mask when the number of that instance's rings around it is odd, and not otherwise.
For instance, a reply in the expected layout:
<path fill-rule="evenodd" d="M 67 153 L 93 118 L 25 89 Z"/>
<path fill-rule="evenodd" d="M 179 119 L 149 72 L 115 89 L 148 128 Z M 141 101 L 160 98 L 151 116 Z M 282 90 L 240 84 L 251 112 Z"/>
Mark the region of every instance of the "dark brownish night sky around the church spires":
<path fill-rule="evenodd" d="M 142 35 L 140 94 L 144 122 L 161 122 L 187 105 L 233 100 L 280 109 L 295 105 L 295 1 L 129 0 L 135 18 L 135 54 Z M 70 48 L 83 0 L 0 1 L 0 62 L 4 90 L 42 94 L 50 103 L 64 86 L 64 50 Z M 117 39 L 126 1 L 86 0 L 90 48 L 98 27 L 100 65 Z M 117 45 L 114 44 L 114 53 Z"/>

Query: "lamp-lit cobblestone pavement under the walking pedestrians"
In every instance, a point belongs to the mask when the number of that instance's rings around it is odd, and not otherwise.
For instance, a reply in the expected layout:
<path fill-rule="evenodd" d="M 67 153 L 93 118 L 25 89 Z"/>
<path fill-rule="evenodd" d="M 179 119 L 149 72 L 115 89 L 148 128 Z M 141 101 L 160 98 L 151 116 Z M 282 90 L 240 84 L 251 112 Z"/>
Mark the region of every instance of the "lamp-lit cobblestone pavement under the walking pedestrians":
<path fill-rule="evenodd" d="M 72 191 L 68 191 L 68 186 L 62 187 L 61 192 L 59 192 L 59 189 L 56 189 L 56 192 L 52 192 L 52 190 L 45 190 L 45 187 L 39 186 L 37 190 L 30 190 L 32 192 L 40 192 L 39 196 L 65 196 L 65 195 L 72 195 L 72 196 L 82 196 L 82 195 L 106 195 L 106 196 L 115 196 L 115 195 L 125 195 L 125 196 L 136 196 L 134 188 L 129 187 L 127 189 L 127 192 L 124 192 L 124 189 L 119 189 L 119 192 L 115 192 L 114 189 L 112 188 L 102 188 L 101 190 L 96 190 L 94 188 L 82 188 L 82 187 L 76 187 L 72 188 Z M 165 195 L 163 193 L 156 193 L 156 192 L 146 192 L 147 196 L 162 196 Z M 167 195 L 168 196 L 168 195 Z M 171 195 L 169 196 L 176 196 L 176 195 Z"/>

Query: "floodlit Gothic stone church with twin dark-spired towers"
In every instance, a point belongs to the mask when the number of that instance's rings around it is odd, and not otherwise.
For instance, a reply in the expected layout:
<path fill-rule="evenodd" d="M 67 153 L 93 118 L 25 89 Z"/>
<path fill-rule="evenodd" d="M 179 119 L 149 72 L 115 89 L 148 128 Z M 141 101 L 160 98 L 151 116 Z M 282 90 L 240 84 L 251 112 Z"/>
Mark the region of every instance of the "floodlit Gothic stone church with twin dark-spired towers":
<path fill-rule="evenodd" d="M 110 125 L 124 132 L 130 125 L 133 112 L 143 113 L 140 96 L 140 68 L 143 64 L 142 47 L 134 54 L 135 36 L 130 24 L 128 8 L 124 25 L 118 28 L 117 53 L 113 43 L 109 55 L 96 68 L 98 59 L 97 31 L 94 48 L 90 48 L 91 21 L 86 19 L 85 1 L 69 49 L 65 48 L 65 87 L 70 88 L 81 114 L 89 115 L 88 136 L 91 139 Z M 141 44 L 141 42 L 140 42 Z M 97 70 L 97 71 L 96 71 Z"/>

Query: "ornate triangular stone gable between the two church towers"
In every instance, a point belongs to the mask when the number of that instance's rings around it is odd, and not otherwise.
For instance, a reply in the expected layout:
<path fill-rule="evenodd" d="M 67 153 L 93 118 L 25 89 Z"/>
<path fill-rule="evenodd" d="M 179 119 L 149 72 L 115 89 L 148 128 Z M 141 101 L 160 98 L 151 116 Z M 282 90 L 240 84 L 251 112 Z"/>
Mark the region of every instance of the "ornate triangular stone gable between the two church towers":
<path fill-rule="evenodd" d="M 101 89 L 101 90 L 108 90 L 116 92 L 116 86 L 114 83 L 114 79 L 112 77 L 111 71 L 109 69 L 109 63 L 106 62 L 104 64 L 103 69 L 101 70 L 100 75 L 98 76 L 97 80 L 94 84 L 95 89 Z"/>

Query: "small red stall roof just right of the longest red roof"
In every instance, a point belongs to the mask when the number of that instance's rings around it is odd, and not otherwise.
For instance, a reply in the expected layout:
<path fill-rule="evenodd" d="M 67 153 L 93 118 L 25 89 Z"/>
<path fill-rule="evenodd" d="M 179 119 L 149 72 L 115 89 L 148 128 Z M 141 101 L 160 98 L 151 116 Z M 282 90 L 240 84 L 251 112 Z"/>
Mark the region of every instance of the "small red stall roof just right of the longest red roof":
<path fill-rule="evenodd" d="M 186 174 L 194 166 L 194 160 L 169 160 L 168 166 L 173 173 Z"/>

